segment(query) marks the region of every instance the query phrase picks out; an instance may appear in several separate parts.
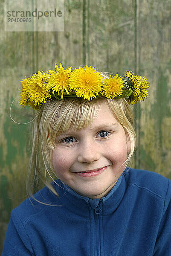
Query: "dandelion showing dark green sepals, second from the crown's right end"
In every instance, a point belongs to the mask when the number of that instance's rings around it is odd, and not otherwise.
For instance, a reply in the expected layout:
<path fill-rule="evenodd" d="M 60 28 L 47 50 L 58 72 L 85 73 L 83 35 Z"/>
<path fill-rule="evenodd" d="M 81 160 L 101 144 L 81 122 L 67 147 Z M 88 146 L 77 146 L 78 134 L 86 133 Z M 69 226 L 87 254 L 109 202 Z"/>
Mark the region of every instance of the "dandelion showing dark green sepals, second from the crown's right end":
<path fill-rule="evenodd" d="M 127 71 L 125 74 L 126 81 L 124 82 L 125 87 L 130 87 L 133 90 L 133 93 L 136 95 L 140 94 L 140 86 L 141 86 L 141 76 L 134 76 L 134 73 L 131 71 Z"/>

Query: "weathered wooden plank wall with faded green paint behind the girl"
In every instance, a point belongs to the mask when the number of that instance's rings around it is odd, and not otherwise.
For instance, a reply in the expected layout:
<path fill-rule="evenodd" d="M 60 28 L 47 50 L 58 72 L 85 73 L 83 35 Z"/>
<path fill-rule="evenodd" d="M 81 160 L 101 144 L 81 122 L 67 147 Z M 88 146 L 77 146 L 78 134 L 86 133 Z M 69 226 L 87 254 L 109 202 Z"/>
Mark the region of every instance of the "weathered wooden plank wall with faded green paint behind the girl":
<path fill-rule="evenodd" d="M 91 65 L 150 82 L 145 102 L 133 107 L 138 145 L 134 168 L 171 178 L 170 0 L 65 0 L 64 32 L 4 32 L 0 0 L 0 252 L 11 210 L 25 199 L 30 126 L 20 80 L 38 70 Z"/>

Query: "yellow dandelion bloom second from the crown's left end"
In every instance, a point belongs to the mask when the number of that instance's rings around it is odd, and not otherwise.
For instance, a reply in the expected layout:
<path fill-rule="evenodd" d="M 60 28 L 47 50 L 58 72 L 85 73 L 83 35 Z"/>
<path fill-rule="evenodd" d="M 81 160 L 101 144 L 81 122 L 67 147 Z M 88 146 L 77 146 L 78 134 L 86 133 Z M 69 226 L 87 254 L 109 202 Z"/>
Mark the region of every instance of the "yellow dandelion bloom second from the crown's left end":
<path fill-rule="evenodd" d="M 30 101 L 34 102 L 35 106 L 41 104 L 46 99 L 51 100 L 49 89 L 47 88 L 48 82 L 46 74 L 39 71 L 38 74 L 34 74 L 29 79 L 29 96 Z"/>

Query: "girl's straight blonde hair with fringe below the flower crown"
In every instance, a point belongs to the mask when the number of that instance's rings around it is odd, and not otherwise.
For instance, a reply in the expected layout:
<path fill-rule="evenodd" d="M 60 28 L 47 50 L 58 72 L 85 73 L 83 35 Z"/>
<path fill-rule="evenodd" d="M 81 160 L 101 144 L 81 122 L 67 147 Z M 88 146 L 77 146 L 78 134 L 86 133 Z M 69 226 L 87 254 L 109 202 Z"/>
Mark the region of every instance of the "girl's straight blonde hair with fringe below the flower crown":
<path fill-rule="evenodd" d="M 102 75 L 106 77 L 106 74 L 102 73 Z M 128 165 L 136 148 L 136 134 L 133 128 L 132 110 L 126 99 L 111 100 L 101 97 L 90 102 L 78 97 L 52 99 L 40 106 L 33 123 L 32 154 L 26 187 L 29 197 L 34 198 L 32 188 L 35 183 L 37 188 L 40 186 L 39 180 L 58 195 L 50 183 L 56 177 L 51 163 L 56 137 L 70 128 L 75 131 L 86 128 L 97 116 L 103 102 L 108 105 L 116 120 L 123 126 L 125 134 L 129 136 L 130 152 L 126 161 Z"/>

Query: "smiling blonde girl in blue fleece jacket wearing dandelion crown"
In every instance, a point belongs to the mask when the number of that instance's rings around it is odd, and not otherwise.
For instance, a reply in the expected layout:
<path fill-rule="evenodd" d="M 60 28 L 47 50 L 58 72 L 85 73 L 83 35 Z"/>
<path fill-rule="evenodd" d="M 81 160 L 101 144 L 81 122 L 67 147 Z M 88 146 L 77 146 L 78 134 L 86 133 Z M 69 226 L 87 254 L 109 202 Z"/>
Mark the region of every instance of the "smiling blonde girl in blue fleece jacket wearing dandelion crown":
<path fill-rule="evenodd" d="M 126 168 L 147 79 L 55 68 L 22 81 L 37 111 L 29 176 L 46 186 L 12 210 L 2 255 L 170 256 L 171 181 Z"/>

